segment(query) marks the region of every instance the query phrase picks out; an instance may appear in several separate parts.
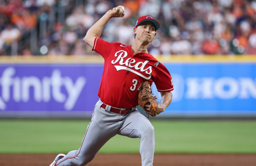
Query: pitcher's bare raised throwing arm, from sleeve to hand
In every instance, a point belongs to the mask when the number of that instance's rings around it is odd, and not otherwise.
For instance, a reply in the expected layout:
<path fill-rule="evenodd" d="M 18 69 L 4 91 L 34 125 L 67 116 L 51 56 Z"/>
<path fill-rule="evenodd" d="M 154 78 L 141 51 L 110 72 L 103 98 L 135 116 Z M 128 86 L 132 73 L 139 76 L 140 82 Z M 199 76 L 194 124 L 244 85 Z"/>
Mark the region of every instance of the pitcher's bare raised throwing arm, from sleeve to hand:
<path fill-rule="evenodd" d="M 87 31 L 83 41 L 88 44 L 88 46 L 93 47 L 93 43 L 95 38 L 99 38 L 101 35 L 101 32 L 105 25 L 108 23 L 110 18 L 113 17 L 124 17 L 124 14 L 119 15 L 118 12 L 121 7 L 113 8 L 112 10 L 109 10 L 104 14 L 92 27 Z"/>

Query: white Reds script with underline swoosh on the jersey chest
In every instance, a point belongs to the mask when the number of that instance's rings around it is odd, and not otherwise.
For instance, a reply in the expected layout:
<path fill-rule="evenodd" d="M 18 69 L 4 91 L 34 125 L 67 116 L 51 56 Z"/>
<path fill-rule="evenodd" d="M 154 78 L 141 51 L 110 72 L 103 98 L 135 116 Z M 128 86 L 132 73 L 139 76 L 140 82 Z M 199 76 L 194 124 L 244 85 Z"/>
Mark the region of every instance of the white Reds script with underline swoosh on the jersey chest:
<path fill-rule="evenodd" d="M 145 78 L 147 80 L 149 80 L 151 78 L 152 66 L 145 68 L 149 61 L 146 60 L 144 62 L 136 63 L 136 60 L 133 58 L 127 58 L 126 60 L 124 60 L 124 58 L 127 57 L 127 52 L 124 50 L 117 51 L 115 54 L 115 57 L 117 57 L 117 58 L 116 58 L 116 60 L 111 61 L 112 64 L 116 64 L 117 62 L 119 62 L 120 65 L 126 66 L 126 67 L 124 67 L 124 66 L 114 65 L 117 71 L 127 70 L 127 71 L 131 71 L 132 73 L 137 74 L 138 76 L 141 76 L 142 78 Z M 132 64 L 134 64 L 134 65 L 132 65 Z M 127 67 L 129 67 L 129 68 L 127 68 Z M 148 76 L 144 76 L 141 73 L 139 73 L 138 71 L 135 71 L 130 68 L 134 68 L 135 70 L 140 70 L 141 72 L 145 72 Z"/>

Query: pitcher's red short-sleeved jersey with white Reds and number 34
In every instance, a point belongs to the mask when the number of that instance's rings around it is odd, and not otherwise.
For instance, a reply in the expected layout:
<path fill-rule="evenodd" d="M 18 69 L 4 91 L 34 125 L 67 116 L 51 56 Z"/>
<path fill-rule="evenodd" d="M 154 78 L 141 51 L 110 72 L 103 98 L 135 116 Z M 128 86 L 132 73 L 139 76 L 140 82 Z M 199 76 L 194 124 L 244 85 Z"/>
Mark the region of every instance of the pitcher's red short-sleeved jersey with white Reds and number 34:
<path fill-rule="evenodd" d="M 166 67 L 151 54 L 133 55 L 132 46 L 109 43 L 95 38 L 92 51 L 104 58 L 104 71 L 98 96 L 112 107 L 131 108 L 138 105 L 142 82 L 155 82 L 159 92 L 173 90 L 172 77 Z"/>

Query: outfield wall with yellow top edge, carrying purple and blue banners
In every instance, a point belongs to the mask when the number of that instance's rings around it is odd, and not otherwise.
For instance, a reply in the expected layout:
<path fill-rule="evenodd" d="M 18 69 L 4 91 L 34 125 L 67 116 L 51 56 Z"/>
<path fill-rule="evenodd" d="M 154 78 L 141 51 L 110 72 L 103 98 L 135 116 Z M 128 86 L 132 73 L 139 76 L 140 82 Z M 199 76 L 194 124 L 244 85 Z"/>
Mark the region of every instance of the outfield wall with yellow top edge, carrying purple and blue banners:
<path fill-rule="evenodd" d="M 174 83 L 162 117 L 256 116 L 256 56 L 157 59 Z M 0 117 L 90 117 L 102 71 L 100 56 L 1 57 Z"/>

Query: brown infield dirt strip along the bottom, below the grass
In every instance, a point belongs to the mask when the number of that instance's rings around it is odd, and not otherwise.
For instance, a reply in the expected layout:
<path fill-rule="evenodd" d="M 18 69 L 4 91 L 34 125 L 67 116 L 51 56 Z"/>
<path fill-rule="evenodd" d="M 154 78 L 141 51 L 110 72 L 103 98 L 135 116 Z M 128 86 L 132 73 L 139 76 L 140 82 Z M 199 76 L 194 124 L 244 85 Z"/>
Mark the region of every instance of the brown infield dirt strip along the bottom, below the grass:
<path fill-rule="evenodd" d="M 48 166 L 57 154 L 0 154 L 0 166 Z M 87 166 L 140 166 L 140 154 L 97 154 Z M 255 166 L 256 154 L 155 154 L 154 166 Z"/>

